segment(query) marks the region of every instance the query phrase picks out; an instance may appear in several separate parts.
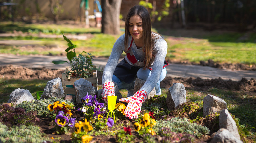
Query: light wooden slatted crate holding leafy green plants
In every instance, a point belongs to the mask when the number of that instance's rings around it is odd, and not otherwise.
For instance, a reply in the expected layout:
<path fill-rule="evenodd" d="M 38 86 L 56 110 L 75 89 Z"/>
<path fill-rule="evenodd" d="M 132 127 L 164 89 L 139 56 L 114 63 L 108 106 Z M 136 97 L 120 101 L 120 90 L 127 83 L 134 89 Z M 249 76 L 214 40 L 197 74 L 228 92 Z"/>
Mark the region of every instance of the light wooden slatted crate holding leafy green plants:
<path fill-rule="evenodd" d="M 94 67 L 96 67 L 96 66 L 94 66 Z M 68 70 L 69 70 L 69 68 L 66 67 L 66 71 L 68 71 Z M 98 90 L 97 71 L 93 70 L 92 75 L 93 75 L 93 77 L 88 77 L 88 78 L 83 78 L 83 79 L 91 82 L 92 85 L 94 87 L 96 87 L 96 89 Z M 71 94 L 71 95 L 75 94 L 74 88 L 70 88 L 70 87 L 66 87 L 66 86 L 67 85 L 74 85 L 74 82 L 77 81 L 78 79 L 79 78 L 70 78 L 70 76 L 66 77 L 65 73 L 62 74 L 62 87 L 63 87 L 63 90 L 64 90 L 64 94 Z"/>

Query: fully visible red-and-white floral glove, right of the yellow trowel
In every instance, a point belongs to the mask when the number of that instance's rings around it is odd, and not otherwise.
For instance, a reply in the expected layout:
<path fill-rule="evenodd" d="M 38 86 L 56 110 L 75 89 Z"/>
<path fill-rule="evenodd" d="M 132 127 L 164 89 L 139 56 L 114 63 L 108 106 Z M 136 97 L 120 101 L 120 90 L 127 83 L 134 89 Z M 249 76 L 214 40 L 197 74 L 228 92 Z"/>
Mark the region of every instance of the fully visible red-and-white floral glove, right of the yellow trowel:
<path fill-rule="evenodd" d="M 129 117 L 130 119 L 137 119 L 141 111 L 142 103 L 146 100 L 147 95 L 148 94 L 146 91 L 138 90 L 133 94 L 133 96 L 119 99 L 119 101 L 128 103 L 124 110 L 125 117 Z"/>

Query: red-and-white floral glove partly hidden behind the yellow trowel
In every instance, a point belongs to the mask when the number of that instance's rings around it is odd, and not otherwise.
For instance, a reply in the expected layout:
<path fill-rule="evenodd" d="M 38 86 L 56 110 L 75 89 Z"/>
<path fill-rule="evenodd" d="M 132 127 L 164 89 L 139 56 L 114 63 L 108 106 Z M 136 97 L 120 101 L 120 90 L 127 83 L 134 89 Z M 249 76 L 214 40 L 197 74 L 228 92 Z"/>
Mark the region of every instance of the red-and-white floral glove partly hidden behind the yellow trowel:
<path fill-rule="evenodd" d="M 106 82 L 102 86 L 101 98 L 105 101 L 105 103 L 108 103 L 108 96 L 115 96 L 113 82 Z"/>

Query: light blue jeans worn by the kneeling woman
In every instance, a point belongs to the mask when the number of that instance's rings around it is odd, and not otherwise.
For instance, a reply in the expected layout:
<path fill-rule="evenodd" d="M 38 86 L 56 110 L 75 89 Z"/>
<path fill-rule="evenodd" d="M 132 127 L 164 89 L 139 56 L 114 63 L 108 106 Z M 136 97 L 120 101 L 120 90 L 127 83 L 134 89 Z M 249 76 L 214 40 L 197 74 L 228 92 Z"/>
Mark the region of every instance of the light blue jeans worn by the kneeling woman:
<path fill-rule="evenodd" d="M 166 71 L 166 68 L 164 67 L 162 70 L 162 73 L 160 75 L 160 78 L 155 86 L 156 93 L 160 93 L 160 91 L 161 91 L 160 81 L 162 81 L 165 78 L 166 73 L 167 73 L 167 71 Z M 150 75 L 151 75 L 151 70 L 149 70 L 149 69 L 143 70 L 143 68 L 140 68 L 137 72 L 137 77 L 142 80 L 147 80 Z M 119 89 L 133 89 L 133 87 L 134 87 L 134 81 L 128 84 L 128 83 L 121 81 L 115 75 L 113 75 L 112 81 L 117 83 Z"/>

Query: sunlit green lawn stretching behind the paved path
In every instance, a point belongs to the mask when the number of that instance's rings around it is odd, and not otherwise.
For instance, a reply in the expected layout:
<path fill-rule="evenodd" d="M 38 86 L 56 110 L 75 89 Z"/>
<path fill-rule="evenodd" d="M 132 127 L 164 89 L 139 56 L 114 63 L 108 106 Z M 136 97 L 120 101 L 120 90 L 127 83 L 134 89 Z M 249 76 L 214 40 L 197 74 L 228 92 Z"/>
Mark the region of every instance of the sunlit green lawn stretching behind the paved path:
<path fill-rule="evenodd" d="M 16 22 L 1 22 L 0 31 L 10 32 L 13 30 L 30 32 L 32 34 L 90 34 L 87 40 L 71 41 L 77 45 L 78 52 L 93 53 L 94 56 L 108 57 L 117 38 L 120 35 L 109 35 L 100 33 L 100 28 L 83 28 L 79 26 L 67 26 L 56 24 L 24 24 Z M 203 31 L 203 30 L 174 30 L 174 29 L 153 29 L 162 34 L 168 43 L 166 59 L 175 61 L 190 61 L 199 63 L 201 60 L 212 59 L 219 63 L 256 63 L 256 33 L 238 33 L 228 31 Z M 0 40 L 39 40 L 43 41 L 42 46 L 49 46 L 44 53 L 53 55 L 65 53 L 66 42 L 62 38 L 40 38 L 34 36 L 0 37 Z M 52 45 L 58 45 L 61 50 L 54 49 Z M 0 53 L 12 54 L 39 54 L 39 51 L 24 51 L 24 45 L 0 45 Z M 43 54 L 44 54 L 43 53 Z"/>

